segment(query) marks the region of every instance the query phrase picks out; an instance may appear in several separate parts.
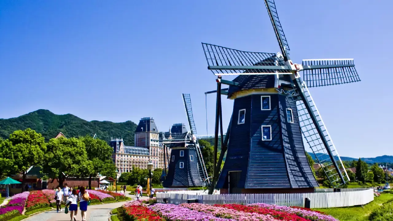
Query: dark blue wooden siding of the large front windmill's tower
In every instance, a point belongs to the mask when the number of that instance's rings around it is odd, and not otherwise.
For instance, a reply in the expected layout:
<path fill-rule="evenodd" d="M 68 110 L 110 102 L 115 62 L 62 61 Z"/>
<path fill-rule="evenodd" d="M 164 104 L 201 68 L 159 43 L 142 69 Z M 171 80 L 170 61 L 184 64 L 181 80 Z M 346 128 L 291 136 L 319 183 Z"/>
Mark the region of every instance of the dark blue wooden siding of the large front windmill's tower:
<path fill-rule="evenodd" d="M 261 96 L 270 96 L 270 110 L 261 110 Z M 294 123 L 286 120 L 287 108 L 292 109 Z M 245 121 L 238 124 L 241 109 L 246 109 Z M 272 140 L 262 140 L 262 125 L 271 125 Z M 229 188 L 230 171 L 241 171 L 237 187 L 242 193 L 312 192 L 318 187 L 305 155 L 294 101 L 279 94 L 234 100 L 228 153 L 216 186 L 223 192 Z"/>

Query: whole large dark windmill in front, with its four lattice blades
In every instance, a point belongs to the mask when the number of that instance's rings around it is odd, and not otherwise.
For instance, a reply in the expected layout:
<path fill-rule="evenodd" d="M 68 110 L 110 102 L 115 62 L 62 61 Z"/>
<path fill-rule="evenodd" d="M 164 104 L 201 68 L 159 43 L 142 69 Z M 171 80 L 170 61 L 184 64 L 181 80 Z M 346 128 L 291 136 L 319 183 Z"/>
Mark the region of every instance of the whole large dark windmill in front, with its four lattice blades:
<path fill-rule="evenodd" d="M 332 186 L 348 179 L 308 87 L 360 81 L 353 59 L 310 59 L 295 64 L 274 0 L 265 0 L 281 53 L 243 52 L 202 43 L 208 69 L 217 78 L 213 188 L 222 193 L 314 192 L 318 186 L 303 138 Z M 303 71 L 302 81 L 299 72 Z M 239 75 L 226 81 L 221 75 Z M 221 89 L 221 84 L 229 88 Z M 222 140 L 221 94 L 234 99 L 227 136 Z M 215 139 L 215 153 L 219 139 Z M 224 167 L 219 167 L 227 152 Z M 214 156 L 217 156 L 216 154 Z M 215 184 L 215 185 L 214 185 Z"/>

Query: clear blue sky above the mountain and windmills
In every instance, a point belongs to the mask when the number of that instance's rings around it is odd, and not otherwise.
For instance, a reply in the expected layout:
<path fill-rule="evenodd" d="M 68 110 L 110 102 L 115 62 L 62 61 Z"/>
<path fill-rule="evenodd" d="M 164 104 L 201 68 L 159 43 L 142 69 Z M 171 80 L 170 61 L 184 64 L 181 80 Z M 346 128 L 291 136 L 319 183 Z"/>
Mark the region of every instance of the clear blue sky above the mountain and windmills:
<path fill-rule="evenodd" d="M 310 89 L 338 153 L 393 155 L 390 73 L 378 65 L 391 63 L 393 2 L 276 5 L 294 62 L 354 58 L 361 82 Z M 167 131 L 186 123 L 181 93 L 189 93 L 198 134 L 206 134 L 204 92 L 216 84 L 200 42 L 279 51 L 262 0 L 2 0 L 0 118 L 37 109 L 113 122 L 150 116 Z M 207 103 L 211 134 L 213 94 Z M 232 103 L 223 97 L 225 128 Z"/>

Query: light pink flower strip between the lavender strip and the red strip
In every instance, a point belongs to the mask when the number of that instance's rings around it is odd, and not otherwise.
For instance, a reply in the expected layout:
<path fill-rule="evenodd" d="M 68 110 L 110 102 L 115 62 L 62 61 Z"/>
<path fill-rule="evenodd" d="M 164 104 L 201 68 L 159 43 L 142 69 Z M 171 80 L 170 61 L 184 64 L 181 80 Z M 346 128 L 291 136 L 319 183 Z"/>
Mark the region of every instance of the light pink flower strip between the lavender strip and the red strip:
<path fill-rule="evenodd" d="M 262 214 L 251 214 L 247 212 L 241 212 L 228 208 L 222 208 L 217 206 L 210 206 L 201 203 L 183 203 L 180 206 L 196 210 L 198 212 L 205 212 L 206 214 L 212 214 L 215 217 L 222 217 L 226 219 L 234 219 L 237 221 L 277 221 L 271 215 Z"/>

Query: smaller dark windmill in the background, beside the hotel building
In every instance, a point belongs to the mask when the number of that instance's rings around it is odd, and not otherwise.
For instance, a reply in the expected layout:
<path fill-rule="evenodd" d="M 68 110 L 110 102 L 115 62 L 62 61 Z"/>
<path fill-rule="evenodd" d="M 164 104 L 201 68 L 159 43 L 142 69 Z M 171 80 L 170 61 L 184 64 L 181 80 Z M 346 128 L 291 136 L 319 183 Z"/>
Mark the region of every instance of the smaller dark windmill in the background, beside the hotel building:
<path fill-rule="evenodd" d="M 190 131 L 183 123 L 175 123 L 169 133 L 162 133 L 159 142 L 171 148 L 168 173 L 163 181 L 164 187 L 202 186 L 207 179 L 199 144 L 196 141 L 196 128 L 189 94 L 182 94 Z M 164 148 L 166 149 L 166 147 Z"/>

